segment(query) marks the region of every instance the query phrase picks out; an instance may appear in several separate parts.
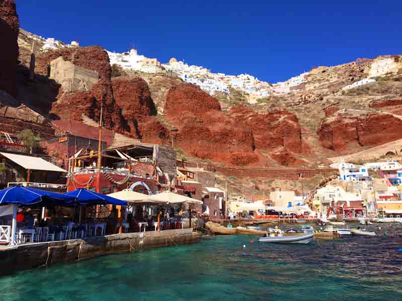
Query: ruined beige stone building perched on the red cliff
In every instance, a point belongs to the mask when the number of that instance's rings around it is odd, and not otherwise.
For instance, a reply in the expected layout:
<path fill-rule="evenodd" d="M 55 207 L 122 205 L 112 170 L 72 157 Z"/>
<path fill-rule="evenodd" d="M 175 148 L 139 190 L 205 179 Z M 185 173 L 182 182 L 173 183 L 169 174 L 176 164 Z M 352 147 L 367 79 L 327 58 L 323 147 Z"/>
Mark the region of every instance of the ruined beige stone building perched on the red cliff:
<path fill-rule="evenodd" d="M 50 62 L 50 78 L 56 80 L 64 91 L 88 92 L 97 83 L 99 73 L 64 61 L 63 57 Z"/>

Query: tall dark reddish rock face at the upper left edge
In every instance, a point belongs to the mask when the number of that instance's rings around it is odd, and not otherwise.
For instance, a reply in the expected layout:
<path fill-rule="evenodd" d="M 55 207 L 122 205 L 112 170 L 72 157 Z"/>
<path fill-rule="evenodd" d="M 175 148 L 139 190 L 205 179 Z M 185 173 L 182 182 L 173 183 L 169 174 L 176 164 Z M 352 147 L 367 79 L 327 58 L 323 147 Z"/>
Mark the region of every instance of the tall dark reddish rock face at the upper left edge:
<path fill-rule="evenodd" d="M 17 96 L 18 33 L 20 24 L 13 0 L 0 0 L 0 90 Z"/>

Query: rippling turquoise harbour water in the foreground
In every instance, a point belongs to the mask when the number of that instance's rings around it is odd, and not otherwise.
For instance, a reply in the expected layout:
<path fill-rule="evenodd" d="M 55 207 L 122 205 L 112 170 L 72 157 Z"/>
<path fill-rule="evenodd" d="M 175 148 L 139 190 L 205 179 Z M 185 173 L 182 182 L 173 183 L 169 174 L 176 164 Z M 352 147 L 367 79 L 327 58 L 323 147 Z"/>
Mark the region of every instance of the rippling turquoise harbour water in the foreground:
<path fill-rule="evenodd" d="M 402 236 L 309 245 L 256 238 L 216 236 L 22 271 L 0 278 L 0 300 L 402 300 Z"/>

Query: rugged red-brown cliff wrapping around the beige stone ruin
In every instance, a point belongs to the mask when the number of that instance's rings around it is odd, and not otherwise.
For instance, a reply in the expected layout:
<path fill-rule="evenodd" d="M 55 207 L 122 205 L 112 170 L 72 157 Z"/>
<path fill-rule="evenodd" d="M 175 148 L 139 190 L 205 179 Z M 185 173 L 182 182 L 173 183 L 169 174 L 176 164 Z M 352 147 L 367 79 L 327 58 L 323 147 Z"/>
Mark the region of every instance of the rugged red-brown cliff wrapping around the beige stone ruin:
<path fill-rule="evenodd" d="M 99 120 L 100 106 L 103 103 L 104 124 L 109 128 L 123 131 L 127 129 L 120 107 L 113 97 L 111 66 L 107 52 L 98 46 L 52 50 L 38 55 L 36 72 L 47 75 L 49 63 L 62 56 L 65 61 L 82 68 L 95 70 L 99 74 L 98 82 L 89 92 L 61 93 L 53 103 L 51 112 L 61 119 L 80 120 L 81 114 Z"/>

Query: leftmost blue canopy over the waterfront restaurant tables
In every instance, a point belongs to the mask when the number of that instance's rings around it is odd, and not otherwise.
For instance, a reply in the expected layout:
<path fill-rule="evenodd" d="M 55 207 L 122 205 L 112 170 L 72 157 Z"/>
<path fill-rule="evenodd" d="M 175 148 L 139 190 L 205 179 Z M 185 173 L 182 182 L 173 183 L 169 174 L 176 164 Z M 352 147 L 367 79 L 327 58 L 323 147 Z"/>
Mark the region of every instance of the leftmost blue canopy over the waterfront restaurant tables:
<path fill-rule="evenodd" d="M 0 205 L 21 204 L 32 205 L 40 202 L 54 205 L 66 205 L 74 198 L 64 194 L 44 191 L 23 186 L 14 186 L 0 190 Z"/>

